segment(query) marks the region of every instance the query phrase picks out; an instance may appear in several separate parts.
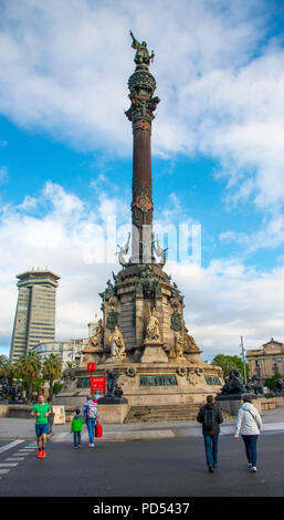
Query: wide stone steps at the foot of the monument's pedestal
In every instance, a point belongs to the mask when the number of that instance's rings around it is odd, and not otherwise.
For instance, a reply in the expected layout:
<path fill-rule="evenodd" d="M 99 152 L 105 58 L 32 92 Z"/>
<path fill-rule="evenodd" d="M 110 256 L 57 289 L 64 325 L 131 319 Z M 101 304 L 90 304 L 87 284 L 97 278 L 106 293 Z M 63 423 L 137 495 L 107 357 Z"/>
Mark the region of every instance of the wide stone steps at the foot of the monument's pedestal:
<path fill-rule="evenodd" d="M 164 423 L 178 420 L 196 420 L 202 404 L 132 406 L 125 423 Z"/>

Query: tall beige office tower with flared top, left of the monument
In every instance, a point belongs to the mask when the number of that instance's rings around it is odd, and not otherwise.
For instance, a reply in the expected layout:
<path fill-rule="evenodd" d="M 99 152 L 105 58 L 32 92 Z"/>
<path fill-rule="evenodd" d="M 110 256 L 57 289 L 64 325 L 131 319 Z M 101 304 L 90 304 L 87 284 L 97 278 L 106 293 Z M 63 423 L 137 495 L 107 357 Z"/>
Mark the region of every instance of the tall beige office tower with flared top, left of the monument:
<path fill-rule="evenodd" d="M 17 361 L 38 343 L 55 340 L 55 298 L 60 277 L 31 270 L 18 274 L 18 303 L 10 358 Z"/>

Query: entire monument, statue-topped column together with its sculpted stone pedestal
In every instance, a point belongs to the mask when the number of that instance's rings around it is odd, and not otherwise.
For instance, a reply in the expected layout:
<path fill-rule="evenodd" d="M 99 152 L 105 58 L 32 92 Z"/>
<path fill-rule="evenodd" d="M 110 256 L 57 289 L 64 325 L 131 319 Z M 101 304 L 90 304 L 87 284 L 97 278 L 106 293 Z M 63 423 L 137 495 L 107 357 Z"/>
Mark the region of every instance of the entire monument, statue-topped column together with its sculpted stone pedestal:
<path fill-rule="evenodd" d="M 151 126 L 160 102 L 149 72 L 154 51 L 130 32 L 134 73 L 128 80 L 133 128 L 132 237 L 119 247 L 120 270 L 113 273 L 102 298 L 102 319 L 84 352 L 75 377 L 60 394 L 61 403 L 78 404 L 88 393 L 86 364 L 95 375 L 119 374 L 118 384 L 132 408 L 202 403 L 223 385 L 221 368 L 201 358 L 183 320 L 183 295 L 165 271 L 166 250 L 152 233 Z M 124 417 L 122 418 L 124 420 Z"/>

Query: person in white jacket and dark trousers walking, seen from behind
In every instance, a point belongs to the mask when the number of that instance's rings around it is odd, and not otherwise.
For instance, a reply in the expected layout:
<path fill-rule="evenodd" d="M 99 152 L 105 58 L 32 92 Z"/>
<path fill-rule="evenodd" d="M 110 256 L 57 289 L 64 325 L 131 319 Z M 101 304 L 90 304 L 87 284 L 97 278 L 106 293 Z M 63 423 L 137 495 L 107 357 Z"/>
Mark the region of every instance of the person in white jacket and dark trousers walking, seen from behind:
<path fill-rule="evenodd" d="M 253 406 L 251 397 L 244 395 L 243 405 L 240 407 L 236 417 L 234 438 L 238 440 L 239 434 L 241 434 L 245 446 L 248 464 L 253 472 L 256 472 L 256 444 L 261 427 L 262 420 L 257 409 Z"/>

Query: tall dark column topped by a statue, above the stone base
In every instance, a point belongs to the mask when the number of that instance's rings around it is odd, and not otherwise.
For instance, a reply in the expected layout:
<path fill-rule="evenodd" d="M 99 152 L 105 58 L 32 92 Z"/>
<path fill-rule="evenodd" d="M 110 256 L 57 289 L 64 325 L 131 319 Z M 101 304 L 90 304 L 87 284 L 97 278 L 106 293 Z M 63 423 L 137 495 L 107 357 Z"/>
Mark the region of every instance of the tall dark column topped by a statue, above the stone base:
<path fill-rule="evenodd" d="M 132 33 L 130 33 L 132 34 Z M 133 241 L 132 263 L 151 263 L 152 198 L 151 198 L 151 121 L 159 97 L 152 97 L 155 77 L 149 72 L 150 60 L 146 42 L 139 43 L 132 34 L 136 49 L 135 72 L 128 80 L 130 108 L 126 116 L 133 123 Z"/>

